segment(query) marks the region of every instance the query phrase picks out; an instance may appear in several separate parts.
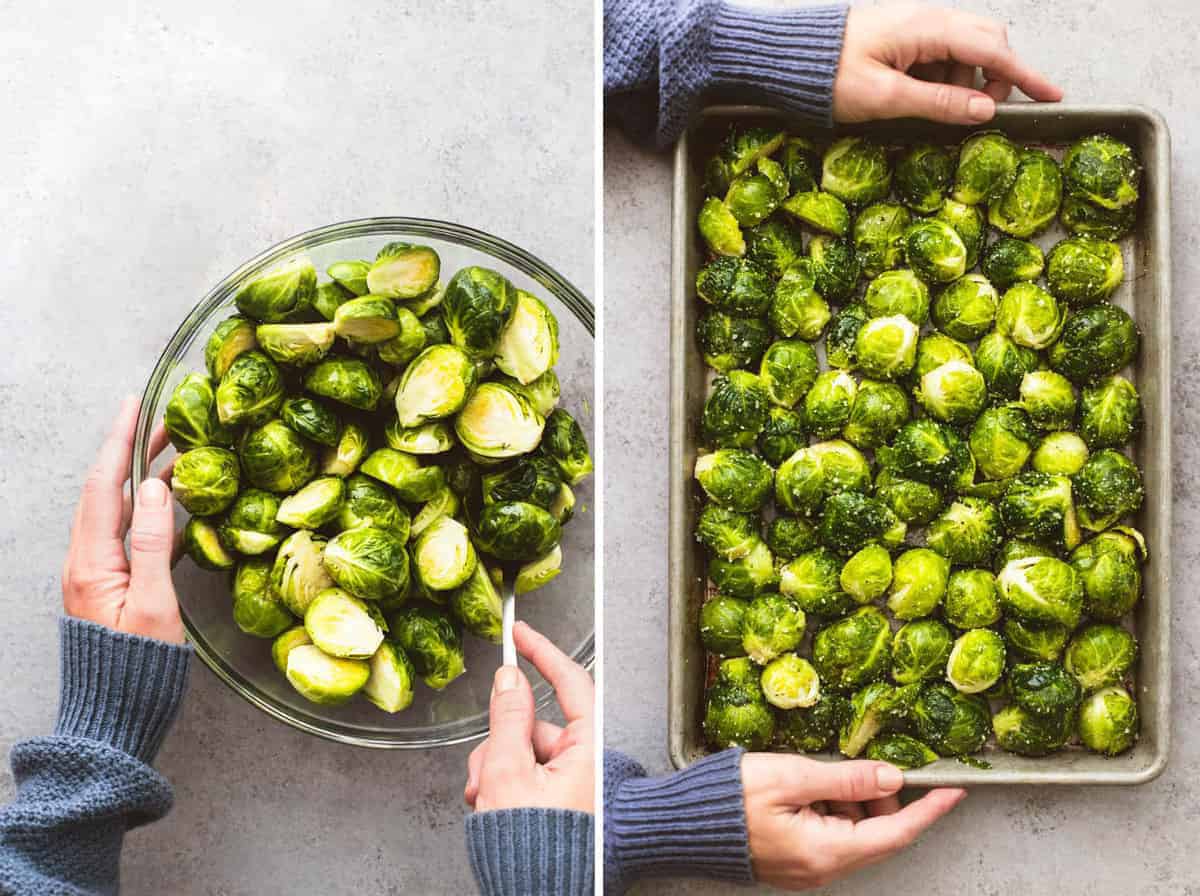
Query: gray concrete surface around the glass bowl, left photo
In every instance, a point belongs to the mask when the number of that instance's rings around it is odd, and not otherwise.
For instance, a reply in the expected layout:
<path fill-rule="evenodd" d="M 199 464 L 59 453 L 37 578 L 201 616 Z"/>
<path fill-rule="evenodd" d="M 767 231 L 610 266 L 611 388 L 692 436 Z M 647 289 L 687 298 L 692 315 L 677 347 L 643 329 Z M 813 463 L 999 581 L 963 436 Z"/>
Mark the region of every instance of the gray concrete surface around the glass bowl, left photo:
<path fill-rule="evenodd" d="M 586 0 L 0 0 L 0 19 L 6 756 L 53 724 L 84 470 L 220 277 L 390 214 L 491 230 L 592 290 L 593 19 Z M 122 892 L 473 892 L 467 752 L 318 741 L 197 663 L 158 760 L 175 808 L 128 837 Z"/>

